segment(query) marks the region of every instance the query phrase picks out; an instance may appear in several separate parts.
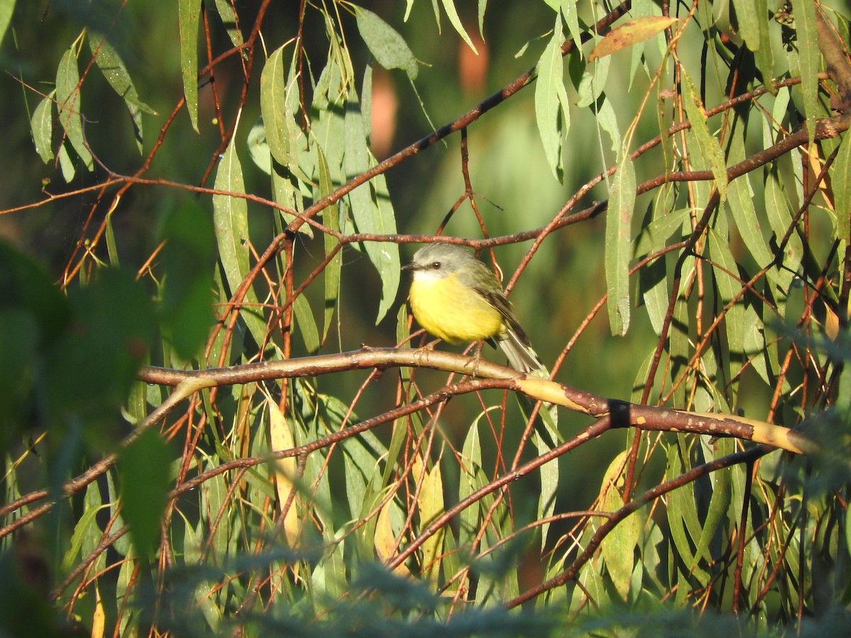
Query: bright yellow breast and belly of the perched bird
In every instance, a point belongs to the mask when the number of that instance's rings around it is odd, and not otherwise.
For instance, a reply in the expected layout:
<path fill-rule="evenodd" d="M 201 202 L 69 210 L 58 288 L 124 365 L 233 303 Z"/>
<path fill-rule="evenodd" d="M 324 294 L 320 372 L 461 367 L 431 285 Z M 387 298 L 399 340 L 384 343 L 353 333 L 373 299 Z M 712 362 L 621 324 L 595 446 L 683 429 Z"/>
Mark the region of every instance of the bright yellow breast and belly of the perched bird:
<path fill-rule="evenodd" d="M 414 277 L 411 310 L 420 326 L 449 343 L 481 341 L 504 332 L 500 311 L 455 275 Z"/>

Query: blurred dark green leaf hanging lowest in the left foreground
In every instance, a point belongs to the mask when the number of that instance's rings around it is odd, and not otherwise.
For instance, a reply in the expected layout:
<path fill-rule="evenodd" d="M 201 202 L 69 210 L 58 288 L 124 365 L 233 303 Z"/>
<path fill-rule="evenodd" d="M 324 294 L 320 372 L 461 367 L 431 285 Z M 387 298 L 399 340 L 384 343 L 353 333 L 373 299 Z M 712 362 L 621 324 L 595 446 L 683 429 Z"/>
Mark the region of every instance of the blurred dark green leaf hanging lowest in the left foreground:
<path fill-rule="evenodd" d="M 170 454 L 157 430 L 144 431 L 118 456 L 124 521 L 141 558 L 150 557 L 160 536 L 160 521 L 171 482 Z"/>

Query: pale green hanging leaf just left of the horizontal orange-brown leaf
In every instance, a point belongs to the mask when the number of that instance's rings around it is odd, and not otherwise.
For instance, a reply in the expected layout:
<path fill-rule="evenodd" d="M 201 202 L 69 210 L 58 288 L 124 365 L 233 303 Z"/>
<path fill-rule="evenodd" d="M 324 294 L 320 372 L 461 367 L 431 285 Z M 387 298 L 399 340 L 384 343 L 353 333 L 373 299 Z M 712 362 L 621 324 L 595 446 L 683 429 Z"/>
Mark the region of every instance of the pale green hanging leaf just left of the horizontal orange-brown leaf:
<path fill-rule="evenodd" d="M 534 110 L 546 161 L 559 182 L 564 177 L 563 143 L 570 126 L 568 93 L 564 88 L 563 43 L 562 16 L 558 14 L 555 31 L 538 62 Z"/>

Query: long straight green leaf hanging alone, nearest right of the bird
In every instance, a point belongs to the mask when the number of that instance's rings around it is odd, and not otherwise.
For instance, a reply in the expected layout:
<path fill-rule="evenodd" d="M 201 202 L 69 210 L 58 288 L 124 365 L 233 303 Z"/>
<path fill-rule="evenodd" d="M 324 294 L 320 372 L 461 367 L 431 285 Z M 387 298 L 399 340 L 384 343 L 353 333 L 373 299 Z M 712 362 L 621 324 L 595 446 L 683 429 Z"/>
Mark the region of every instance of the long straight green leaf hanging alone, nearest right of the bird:
<path fill-rule="evenodd" d="M 630 256 L 636 174 L 627 149 L 621 149 L 606 210 L 606 289 L 608 325 L 623 336 L 630 327 Z"/>

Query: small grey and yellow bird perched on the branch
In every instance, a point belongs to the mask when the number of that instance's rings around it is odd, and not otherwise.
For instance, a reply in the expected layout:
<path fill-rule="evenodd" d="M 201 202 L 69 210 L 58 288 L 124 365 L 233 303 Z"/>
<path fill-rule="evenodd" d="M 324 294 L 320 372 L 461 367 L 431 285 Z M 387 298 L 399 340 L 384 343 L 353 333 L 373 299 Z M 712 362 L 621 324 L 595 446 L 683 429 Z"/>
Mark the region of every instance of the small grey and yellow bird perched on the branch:
<path fill-rule="evenodd" d="M 465 248 L 433 242 L 402 268 L 413 274 L 411 310 L 426 332 L 450 344 L 495 342 L 518 372 L 545 371 L 499 280 Z"/>

